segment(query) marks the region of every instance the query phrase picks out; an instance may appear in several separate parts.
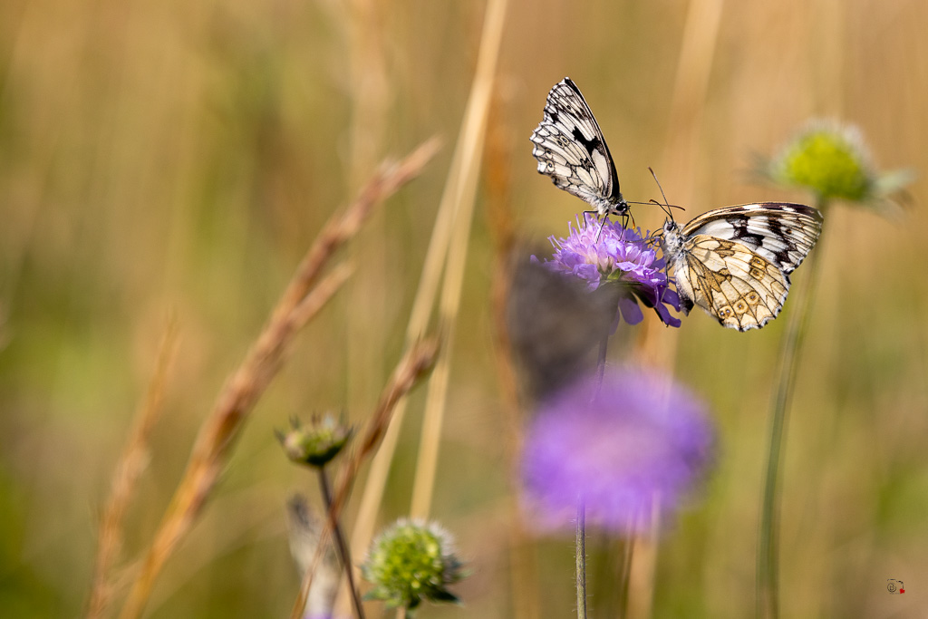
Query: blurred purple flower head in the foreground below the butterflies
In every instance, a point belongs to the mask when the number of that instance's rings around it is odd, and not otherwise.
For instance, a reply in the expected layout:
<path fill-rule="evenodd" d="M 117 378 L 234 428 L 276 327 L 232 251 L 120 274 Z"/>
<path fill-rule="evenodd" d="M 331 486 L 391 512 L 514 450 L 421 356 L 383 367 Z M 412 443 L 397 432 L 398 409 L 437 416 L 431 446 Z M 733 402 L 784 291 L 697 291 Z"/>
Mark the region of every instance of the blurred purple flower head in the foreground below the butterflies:
<path fill-rule="evenodd" d="M 579 380 L 544 403 L 522 455 L 527 513 L 570 528 L 579 501 L 591 526 L 647 531 L 676 509 L 712 459 L 713 429 L 689 390 L 625 368 Z"/>

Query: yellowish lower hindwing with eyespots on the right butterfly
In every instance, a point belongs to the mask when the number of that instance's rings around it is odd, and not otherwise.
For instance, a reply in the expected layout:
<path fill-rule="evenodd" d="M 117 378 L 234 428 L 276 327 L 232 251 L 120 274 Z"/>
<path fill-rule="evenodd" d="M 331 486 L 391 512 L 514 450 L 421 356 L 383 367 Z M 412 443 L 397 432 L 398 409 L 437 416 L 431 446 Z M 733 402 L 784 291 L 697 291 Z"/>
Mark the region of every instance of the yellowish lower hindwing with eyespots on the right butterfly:
<path fill-rule="evenodd" d="M 780 314 L 790 277 L 741 243 L 697 235 L 685 241 L 681 296 L 731 329 L 760 329 Z"/>

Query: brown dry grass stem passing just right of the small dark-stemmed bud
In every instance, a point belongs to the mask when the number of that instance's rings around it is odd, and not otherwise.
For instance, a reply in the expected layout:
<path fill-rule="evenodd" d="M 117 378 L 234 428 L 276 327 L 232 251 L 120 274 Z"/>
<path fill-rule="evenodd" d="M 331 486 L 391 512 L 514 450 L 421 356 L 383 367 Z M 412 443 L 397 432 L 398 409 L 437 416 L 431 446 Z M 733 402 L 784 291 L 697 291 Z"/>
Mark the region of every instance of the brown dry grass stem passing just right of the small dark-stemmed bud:
<path fill-rule="evenodd" d="M 325 548 L 329 544 L 329 536 L 332 533 L 332 522 L 338 521 L 342 515 L 342 508 L 351 492 L 354 478 L 361 468 L 361 464 L 370 457 L 370 455 L 380 445 L 387 428 L 390 426 L 390 420 L 393 417 L 393 410 L 396 405 L 409 393 L 410 390 L 422 379 L 434 366 L 435 358 L 438 355 L 438 341 L 424 340 L 415 343 L 410 347 L 406 355 L 400 360 L 393 370 L 393 375 L 380 393 L 380 401 L 374 409 L 373 414 L 367 421 L 367 430 L 360 438 L 357 448 L 351 458 L 345 460 L 342 464 L 342 471 L 339 474 L 339 480 L 336 484 L 335 491 L 332 493 L 332 504 L 329 508 L 329 516 L 326 526 L 319 534 L 319 545 L 316 548 L 316 556 L 313 558 L 309 569 L 303 575 L 303 582 L 300 585 L 300 592 L 296 601 L 293 603 L 293 609 L 290 613 L 292 619 L 299 619 L 303 614 L 303 607 L 306 604 L 306 596 L 313 585 L 313 574 L 316 566 L 322 560 Z"/>

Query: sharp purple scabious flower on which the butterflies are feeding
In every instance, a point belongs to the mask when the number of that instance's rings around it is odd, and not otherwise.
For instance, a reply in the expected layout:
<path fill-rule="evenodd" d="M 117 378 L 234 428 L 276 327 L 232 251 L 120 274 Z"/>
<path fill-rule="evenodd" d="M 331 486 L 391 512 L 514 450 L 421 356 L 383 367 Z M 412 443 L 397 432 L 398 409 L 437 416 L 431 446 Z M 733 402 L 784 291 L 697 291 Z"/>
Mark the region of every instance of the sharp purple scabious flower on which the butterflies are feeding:
<path fill-rule="evenodd" d="M 579 219 L 576 226 L 569 224 L 567 239 L 550 237 L 554 255 L 541 264 L 555 273 L 579 277 L 588 290 L 597 290 L 606 283 L 618 285 L 622 294 L 617 317 L 629 325 L 644 319 L 638 307 L 640 301 L 653 308 L 664 324 L 679 327 L 680 320 L 670 315 L 669 308 L 679 311 L 680 300 L 677 292 L 667 287 L 664 258 L 657 257 L 641 230 L 625 229 L 609 220 L 600 225 L 592 213 L 585 213 L 585 221 L 586 226 Z M 539 262 L 535 256 L 532 260 Z"/>

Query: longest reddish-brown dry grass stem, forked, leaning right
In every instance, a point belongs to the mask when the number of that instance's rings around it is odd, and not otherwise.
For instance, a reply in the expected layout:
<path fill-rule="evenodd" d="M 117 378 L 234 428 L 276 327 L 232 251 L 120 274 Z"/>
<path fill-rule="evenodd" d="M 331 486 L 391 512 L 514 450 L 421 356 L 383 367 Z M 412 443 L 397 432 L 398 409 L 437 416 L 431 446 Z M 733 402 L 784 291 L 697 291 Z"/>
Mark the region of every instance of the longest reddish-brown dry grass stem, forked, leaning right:
<path fill-rule="evenodd" d="M 346 210 L 336 213 L 323 227 L 291 278 L 269 323 L 241 366 L 226 381 L 213 412 L 200 426 L 187 470 L 177 485 L 122 609 L 123 619 L 138 617 L 142 613 L 164 562 L 199 516 L 235 445 L 238 431 L 277 374 L 297 331 L 344 281 L 346 271 L 337 269 L 316 287 L 335 251 L 357 233 L 375 206 L 419 174 L 437 148 L 437 140 L 432 139 L 419 146 L 404 161 L 381 166 L 380 172 L 367 183 L 357 200 Z"/>

